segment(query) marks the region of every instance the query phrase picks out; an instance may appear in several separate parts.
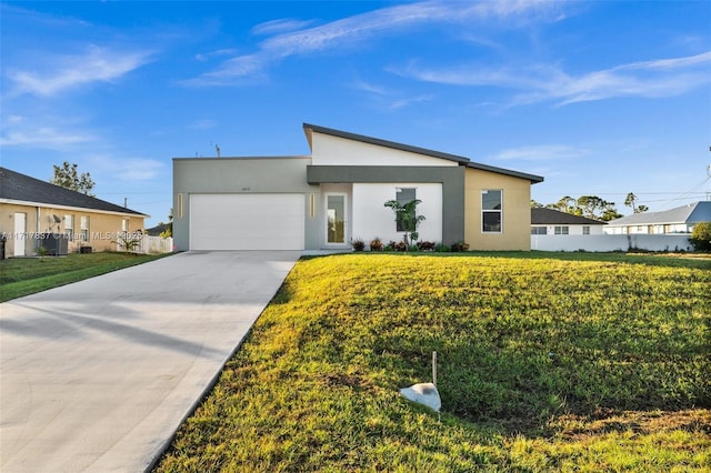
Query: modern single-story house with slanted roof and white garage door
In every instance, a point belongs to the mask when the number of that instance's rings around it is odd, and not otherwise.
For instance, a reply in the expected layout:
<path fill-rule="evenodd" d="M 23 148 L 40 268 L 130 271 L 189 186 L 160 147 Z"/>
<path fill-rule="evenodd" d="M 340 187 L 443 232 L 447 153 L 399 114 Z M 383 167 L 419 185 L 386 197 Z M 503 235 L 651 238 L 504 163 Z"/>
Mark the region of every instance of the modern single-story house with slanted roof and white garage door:
<path fill-rule="evenodd" d="M 543 178 L 303 124 L 310 155 L 174 158 L 179 250 L 348 249 L 401 241 L 385 201 L 418 199 L 420 241 L 530 250 L 531 184 Z"/>

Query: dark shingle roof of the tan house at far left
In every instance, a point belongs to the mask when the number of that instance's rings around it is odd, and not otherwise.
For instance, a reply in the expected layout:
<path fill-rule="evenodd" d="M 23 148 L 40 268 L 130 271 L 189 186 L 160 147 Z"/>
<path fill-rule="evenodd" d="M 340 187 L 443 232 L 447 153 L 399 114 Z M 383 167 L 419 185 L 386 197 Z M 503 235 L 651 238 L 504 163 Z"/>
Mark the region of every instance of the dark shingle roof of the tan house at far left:
<path fill-rule="evenodd" d="M 148 217 L 144 213 L 60 188 L 6 168 L 0 168 L 0 199 Z"/>

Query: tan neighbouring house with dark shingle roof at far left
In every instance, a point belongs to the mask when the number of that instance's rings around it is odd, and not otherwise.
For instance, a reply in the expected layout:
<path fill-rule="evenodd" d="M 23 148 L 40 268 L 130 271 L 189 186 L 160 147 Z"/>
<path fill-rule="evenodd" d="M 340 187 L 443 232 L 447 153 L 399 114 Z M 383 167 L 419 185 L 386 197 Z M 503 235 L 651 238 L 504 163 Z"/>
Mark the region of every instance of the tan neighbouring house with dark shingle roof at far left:
<path fill-rule="evenodd" d="M 123 232 L 143 230 L 143 213 L 0 168 L 0 236 L 4 258 L 80 249 L 117 249 Z"/>

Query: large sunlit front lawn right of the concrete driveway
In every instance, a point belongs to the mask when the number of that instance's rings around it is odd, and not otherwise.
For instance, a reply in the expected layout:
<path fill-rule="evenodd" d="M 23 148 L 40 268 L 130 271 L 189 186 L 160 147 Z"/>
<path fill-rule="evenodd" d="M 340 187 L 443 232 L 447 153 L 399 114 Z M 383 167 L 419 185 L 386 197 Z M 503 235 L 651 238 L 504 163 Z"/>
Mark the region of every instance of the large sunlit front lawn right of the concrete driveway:
<path fill-rule="evenodd" d="M 708 259 L 301 260 L 157 470 L 709 471 Z M 430 381 L 441 419 L 399 388 Z"/>

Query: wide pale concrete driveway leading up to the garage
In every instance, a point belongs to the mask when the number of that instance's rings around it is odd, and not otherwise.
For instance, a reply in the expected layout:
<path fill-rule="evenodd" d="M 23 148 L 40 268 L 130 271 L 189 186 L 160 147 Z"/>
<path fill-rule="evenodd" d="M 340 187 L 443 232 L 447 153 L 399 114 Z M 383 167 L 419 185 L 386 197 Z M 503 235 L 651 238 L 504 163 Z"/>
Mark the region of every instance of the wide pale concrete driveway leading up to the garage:
<path fill-rule="evenodd" d="M 300 252 L 189 252 L 0 304 L 0 471 L 141 472 Z"/>

